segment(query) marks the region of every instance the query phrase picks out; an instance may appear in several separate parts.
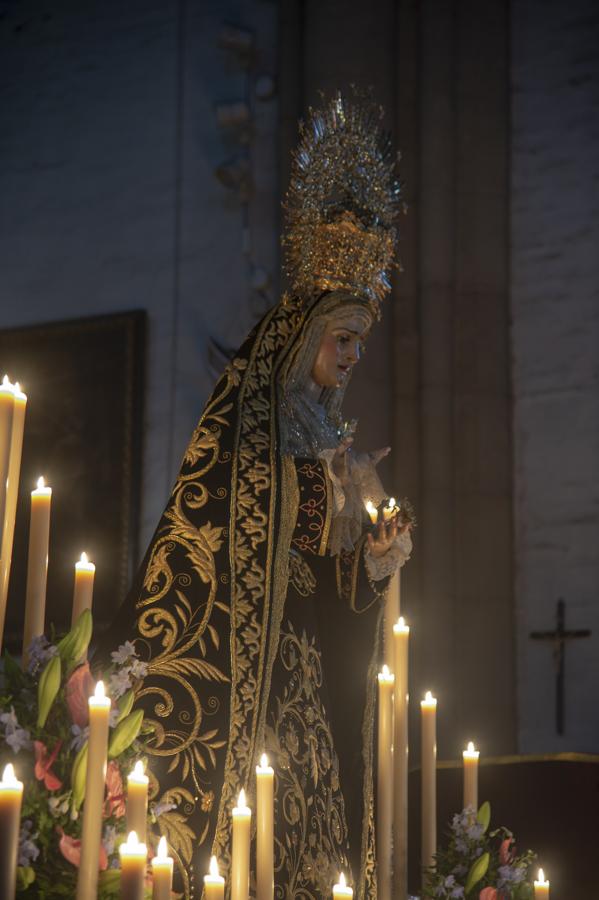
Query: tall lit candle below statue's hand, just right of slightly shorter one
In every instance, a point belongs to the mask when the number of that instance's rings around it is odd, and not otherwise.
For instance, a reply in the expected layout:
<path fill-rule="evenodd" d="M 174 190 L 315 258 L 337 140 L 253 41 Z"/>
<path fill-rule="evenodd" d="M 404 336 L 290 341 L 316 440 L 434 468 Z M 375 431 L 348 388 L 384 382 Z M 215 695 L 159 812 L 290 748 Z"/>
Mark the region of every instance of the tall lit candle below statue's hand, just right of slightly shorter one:
<path fill-rule="evenodd" d="M 408 646 L 403 618 L 393 626 L 393 887 L 396 900 L 408 896 Z"/>

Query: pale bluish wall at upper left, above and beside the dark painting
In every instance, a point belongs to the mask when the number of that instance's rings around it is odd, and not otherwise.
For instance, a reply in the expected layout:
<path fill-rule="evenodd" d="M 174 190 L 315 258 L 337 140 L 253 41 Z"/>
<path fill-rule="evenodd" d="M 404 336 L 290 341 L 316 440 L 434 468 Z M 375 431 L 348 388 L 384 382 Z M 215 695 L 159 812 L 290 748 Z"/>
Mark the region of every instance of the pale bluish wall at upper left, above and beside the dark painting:
<path fill-rule="evenodd" d="M 143 552 L 216 377 L 210 340 L 234 349 L 274 298 L 251 277 L 277 280 L 276 99 L 256 99 L 219 36 L 225 24 L 253 31 L 253 74 L 272 74 L 276 9 L 0 11 L 0 327 L 147 311 Z M 254 120 L 245 148 L 216 121 L 217 104 L 238 100 Z M 240 150 L 255 184 L 245 214 L 214 177 Z"/>

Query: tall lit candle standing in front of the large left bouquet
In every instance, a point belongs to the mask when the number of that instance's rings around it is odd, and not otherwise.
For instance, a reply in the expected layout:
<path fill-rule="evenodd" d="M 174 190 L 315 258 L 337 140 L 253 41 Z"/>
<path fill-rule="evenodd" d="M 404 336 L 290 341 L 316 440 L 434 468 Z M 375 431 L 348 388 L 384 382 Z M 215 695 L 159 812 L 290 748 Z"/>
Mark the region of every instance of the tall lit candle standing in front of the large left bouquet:
<path fill-rule="evenodd" d="M 110 698 L 104 694 L 103 681 L 97 682 L 96 690 L 87 702 L 89 705 L 89 738 L 77 900 L 96 900 L 98 888 L 102 806 L 108 751 L 108 719 L 110 716 Z"/>

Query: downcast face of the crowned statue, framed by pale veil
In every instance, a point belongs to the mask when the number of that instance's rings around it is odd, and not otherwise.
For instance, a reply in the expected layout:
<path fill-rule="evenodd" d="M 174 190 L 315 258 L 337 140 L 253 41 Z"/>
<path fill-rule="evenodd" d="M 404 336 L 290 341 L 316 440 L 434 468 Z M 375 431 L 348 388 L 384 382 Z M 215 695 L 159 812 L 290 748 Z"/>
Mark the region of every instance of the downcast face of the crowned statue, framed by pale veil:
<path fill-rule="evenodd" d="M 332 319 L 322 336 L 312 378 L 321 387 L 341 387 L 360 359 L 362 341 L 370 329 L 370 318 L 355 313 Z"/>

